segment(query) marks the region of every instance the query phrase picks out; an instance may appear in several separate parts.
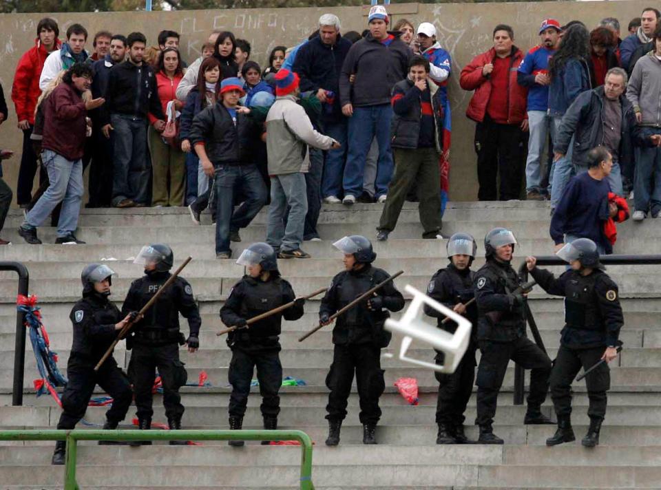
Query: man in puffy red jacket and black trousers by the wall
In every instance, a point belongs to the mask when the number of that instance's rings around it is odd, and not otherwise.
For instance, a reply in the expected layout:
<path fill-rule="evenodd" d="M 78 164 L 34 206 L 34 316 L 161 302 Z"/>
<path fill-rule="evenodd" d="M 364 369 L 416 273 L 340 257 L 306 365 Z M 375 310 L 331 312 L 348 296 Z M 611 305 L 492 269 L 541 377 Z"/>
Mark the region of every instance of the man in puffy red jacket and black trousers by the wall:
<path fill-rule="evenodd" d="M 514 44 L 514 31 L 499 24 L 494 47 L 478 54 L 459 78 L 464 90 L 474 90 L 466 116 L 474 120 L 478 199 L 499 198 L 496 175 L 500 170 L 500 200 L 518 199 L 523 177 L 523 134 L 527 131 L 527 89 L 516 83 L 523 52 Z"/>

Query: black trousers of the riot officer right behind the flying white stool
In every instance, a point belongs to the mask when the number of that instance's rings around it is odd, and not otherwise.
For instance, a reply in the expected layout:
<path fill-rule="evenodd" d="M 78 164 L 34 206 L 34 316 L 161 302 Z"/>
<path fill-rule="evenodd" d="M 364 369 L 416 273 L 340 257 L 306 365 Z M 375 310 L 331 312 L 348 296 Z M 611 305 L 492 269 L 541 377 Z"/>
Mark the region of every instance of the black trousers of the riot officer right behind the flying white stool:
<path fill-rule="evenodd" d="M 470 341 L 466 353 L 463 354 L 457 370 L 452 374 L 435 372 L 439 381 L 439 400 L 436 405 L 436 423 L 452 425 L 454 427 L 463 425 L 470 394 L 473 392 L 473 381 L 475 379 L 475 352 L 477 345 Z M 443 352 L 436 356 L 436 363 L 443 364 Z"/>

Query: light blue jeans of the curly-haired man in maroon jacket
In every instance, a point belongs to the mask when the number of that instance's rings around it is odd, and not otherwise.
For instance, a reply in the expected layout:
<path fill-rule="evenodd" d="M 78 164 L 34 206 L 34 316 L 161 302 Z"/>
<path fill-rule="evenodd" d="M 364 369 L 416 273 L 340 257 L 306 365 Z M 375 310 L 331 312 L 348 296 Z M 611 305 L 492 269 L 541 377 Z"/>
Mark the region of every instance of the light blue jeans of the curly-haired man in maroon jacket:
<path fill-rule="evenodd" d="M 67 160 L 52 150 L 44 150 L 41 153 L 41 160 L 48 172 L 50 185 L 34 204 L 21 226 L 32 229 L 41 226 L 55 206 L 61 202 L 62 211 L 57 222 L 57 236 L 65 237 L 74 233 L 78 227 L 78 215 L 81 212 L 84 192 L 83 162 Z"/>

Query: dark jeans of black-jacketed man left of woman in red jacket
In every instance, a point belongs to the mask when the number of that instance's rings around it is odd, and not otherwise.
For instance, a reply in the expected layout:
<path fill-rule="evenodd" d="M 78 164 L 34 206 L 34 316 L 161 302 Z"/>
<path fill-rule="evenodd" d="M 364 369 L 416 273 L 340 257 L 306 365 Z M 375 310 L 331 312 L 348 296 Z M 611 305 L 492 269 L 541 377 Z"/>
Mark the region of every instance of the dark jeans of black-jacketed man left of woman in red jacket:
<path fill-rule="evenodd" d="M 122 114 L 112 114 L 110 120 L 115 133 L 112 204 L 124 199 L 149 204 L 151 166 L 147 158 L 147 121 Z"/>

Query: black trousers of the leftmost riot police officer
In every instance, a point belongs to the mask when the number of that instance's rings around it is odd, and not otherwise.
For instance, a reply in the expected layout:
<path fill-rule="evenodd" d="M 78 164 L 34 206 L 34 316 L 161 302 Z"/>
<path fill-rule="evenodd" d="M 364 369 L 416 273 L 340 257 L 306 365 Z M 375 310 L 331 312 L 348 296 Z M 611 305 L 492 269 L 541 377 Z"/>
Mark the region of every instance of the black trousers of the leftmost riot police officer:
<path fill-rule="evenodd" d="M 124 420 L 126 412 L 133 399 L 133 392 L 126 375 L 120 370 L 116 361 L 110 357 L 94 371 L 96 362 L 72 354 L 67 363 L 67 386 L 62 394 L 62 409 L 58 429 L 73 429 L 87 410 L 94 387 L 96 385 L 110 396 L 113 401 L 105 413 L 111 423 Z"/>

